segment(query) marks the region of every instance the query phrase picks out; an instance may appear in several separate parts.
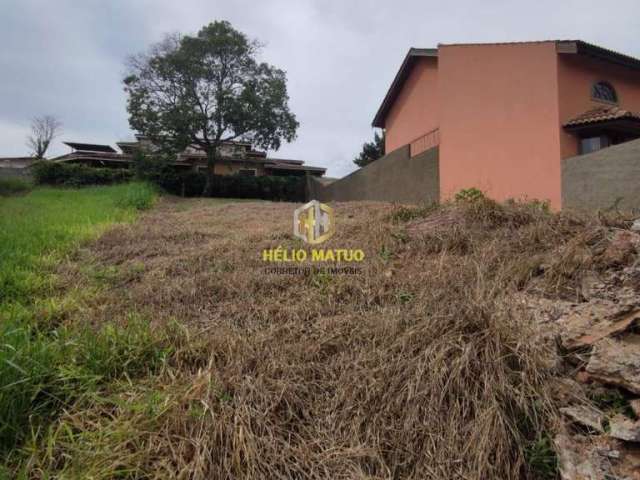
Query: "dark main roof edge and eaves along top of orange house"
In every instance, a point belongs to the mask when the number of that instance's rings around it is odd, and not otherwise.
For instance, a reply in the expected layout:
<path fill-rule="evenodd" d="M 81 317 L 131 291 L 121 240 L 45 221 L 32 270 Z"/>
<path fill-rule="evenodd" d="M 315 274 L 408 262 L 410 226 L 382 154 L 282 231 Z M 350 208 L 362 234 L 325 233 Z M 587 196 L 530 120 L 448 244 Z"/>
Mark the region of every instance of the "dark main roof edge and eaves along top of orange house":
<path fill-rule="evenodd" d="M 518 44 L 538 44 L 538 43 L 555 43 L 556 51 L 558 54 L 577 54 L 585 57 L 595 58 L 605 62 L 621 65 L 634 70 L 640 70 L 640 59 L 625 55 L 623 53 L 609 50 L 592 43 L 584 42 L 582 40 L 543 40 L 532 42 L 497 42 L 497 43 L 462 43 L 462 44 L 448 44 L 457 46 L 474 46 L 474 45 L 518 45 Z M 439 47 L 443 45 L 440 44 Z M 384 128 L 384 121 L 389 109 L 393 105 L 393 102 L 397 98 L 398 94 L 402 90 L 402 86 L 407 77 L 411 73 L 416 61 L 420 57 L 438 57 L 438 48 L 410 48 L 409 52 L 405 56 L 402 65 L 398 73 L 396 73 L 387 94 L 378 108 L 375 117 L 373 118 L 372 126 L 378 128 Z"/>

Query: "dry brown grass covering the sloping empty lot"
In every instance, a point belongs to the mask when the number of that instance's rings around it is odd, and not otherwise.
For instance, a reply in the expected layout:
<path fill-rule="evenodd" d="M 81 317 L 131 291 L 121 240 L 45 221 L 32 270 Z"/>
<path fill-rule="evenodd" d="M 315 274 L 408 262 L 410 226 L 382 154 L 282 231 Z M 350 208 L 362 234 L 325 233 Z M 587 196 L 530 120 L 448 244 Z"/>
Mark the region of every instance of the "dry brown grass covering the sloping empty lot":
<path fill-rule="evenodd" d="M 262 249 L 302 247 L 293 208 L 165 201 L 66 266 L 65 288 L 103 285 L 76 321 L 136 311 L 174 353 L 157 376 L 71 406 L 31 445 L 32 476 L 548 473 L 527 460 L 554 426 L 554 352 L 516 294 L 577 298 L 583 272 L 607 268 L 611 220 L 338 204 L 323 246 L 364 249 L 363 273 L 267 275 Z"/>

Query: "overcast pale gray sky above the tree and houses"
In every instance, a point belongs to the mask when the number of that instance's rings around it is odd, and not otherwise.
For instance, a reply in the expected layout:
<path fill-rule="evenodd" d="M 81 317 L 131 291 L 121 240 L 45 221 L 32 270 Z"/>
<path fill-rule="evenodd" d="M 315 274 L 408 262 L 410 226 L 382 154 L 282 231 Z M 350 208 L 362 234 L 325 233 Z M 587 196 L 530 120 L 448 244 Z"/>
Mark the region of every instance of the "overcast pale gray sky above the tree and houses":
<path fill-rule="evenodd" d="M 121 79 L 128 55 L 214 20 L 264 45 L 287 72 L 298 138 L 281 158 L 341 177 L 409 47 L 582 39 L 640 57 L 639 0 L 0 0 L 0 156 L 26 155 L 30 119 L 54 114 L 63 140 L 132 138 Z M 470 72 L 470 78 L 472 72 Z"/>

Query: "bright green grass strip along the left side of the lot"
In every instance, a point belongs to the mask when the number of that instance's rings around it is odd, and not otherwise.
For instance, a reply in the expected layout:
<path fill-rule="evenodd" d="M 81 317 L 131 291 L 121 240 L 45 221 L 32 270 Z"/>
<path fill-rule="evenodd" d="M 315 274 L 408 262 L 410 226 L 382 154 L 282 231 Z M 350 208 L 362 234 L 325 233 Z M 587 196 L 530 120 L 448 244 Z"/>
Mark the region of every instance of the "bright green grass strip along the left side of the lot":
<path fill-rule="evenodd" d="M 3 463 L 15 462 L 21 444 L 38 436 L 65 405 L 114 379 L 153 371 L 170 353 L 161 334 L 135 316 L 125 327 L 97 331 L 61 322 L 82 292 L 59 297 L 54 290 L 55 267 L 65 255 L 114 223 L 134 220 L 155 198 L 142 183 L 37 188 L 0 198 Z"/>

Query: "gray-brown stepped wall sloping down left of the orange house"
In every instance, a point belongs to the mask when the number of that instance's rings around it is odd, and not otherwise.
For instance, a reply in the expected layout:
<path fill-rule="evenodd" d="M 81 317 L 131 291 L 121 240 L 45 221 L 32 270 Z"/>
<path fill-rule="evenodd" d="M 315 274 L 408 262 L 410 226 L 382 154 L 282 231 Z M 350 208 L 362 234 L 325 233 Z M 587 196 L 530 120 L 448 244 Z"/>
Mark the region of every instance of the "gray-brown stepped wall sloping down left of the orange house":
<path fill-rule="evenodd" d="M 409 158 L 405 145 L 329 185 L 308 179 L 307 195 L 323 202 L 378 200 L 422 203 L 440 196 L 438 148 Z"/>

